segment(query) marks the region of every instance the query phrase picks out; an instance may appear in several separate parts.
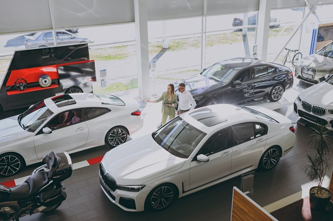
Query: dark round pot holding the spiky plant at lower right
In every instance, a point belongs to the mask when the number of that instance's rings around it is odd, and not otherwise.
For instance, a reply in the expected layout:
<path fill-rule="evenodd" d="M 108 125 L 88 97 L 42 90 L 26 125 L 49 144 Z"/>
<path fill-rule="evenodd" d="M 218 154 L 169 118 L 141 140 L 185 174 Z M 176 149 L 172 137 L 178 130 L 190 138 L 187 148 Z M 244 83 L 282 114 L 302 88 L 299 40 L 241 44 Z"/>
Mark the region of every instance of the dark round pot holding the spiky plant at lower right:
<path fill-rule="evenodd" d="M 331 199 L 331 192 L 323 187 L 312 187 L 309 192 L 309 198 L 311 209 L 326 210 Z"/>

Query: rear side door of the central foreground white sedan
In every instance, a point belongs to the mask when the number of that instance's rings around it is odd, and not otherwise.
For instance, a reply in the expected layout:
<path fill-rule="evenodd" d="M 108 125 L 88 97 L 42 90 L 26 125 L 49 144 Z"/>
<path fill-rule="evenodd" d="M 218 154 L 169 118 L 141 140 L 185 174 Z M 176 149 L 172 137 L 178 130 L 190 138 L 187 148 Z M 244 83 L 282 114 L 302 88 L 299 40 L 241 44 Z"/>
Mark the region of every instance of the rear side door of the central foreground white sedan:
<path fill-rule="evenodd" d="M 267 126 L 261 123 L 243 123 L 230 127 L 232 147 L 231 173 L 258 162 L 267 141 Z"/>

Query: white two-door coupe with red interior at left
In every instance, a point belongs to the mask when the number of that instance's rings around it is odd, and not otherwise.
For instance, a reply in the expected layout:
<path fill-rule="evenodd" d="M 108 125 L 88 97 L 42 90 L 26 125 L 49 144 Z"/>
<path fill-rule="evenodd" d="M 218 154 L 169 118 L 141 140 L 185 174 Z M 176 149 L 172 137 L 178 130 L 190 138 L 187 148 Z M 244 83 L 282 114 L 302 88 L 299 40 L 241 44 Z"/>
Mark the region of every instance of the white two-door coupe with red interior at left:
<path fill-rule="evenodd" d="M 46 98 L 0 121 L 0 175 L 14 175 L 50 151 L 118 146 L 142 126 L 139 103 L 128 96 L 78 93 Z"/>

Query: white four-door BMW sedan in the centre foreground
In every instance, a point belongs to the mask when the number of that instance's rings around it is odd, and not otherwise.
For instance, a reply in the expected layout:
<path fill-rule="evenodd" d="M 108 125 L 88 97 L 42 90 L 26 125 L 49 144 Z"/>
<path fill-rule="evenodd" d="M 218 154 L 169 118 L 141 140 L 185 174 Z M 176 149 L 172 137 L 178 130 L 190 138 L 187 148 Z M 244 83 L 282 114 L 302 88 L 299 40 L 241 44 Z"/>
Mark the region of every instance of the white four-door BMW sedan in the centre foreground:
<path fill-rule="evenodd" d="M 161 210 L 258 167 L 272 169 L 292 150 L 294 131 L 288 118 L 262 107 L 198 108 L 109 151 L 101 187 L 126 211 Z"/>

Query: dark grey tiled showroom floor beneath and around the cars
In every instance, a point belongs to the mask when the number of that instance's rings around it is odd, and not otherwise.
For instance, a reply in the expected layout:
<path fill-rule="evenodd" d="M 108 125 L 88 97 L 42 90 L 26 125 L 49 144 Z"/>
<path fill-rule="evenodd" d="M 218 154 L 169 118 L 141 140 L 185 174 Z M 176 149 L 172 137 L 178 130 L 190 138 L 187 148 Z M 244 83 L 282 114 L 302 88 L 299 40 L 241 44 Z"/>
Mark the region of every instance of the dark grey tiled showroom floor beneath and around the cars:
<path fill-rule="evenodd" d="M 293 101 L 300 91 L 309 86 L 311 85 L 295 81 L 294 88 L 285 93 L 281 102 L 270 103 L 261 100 L 249 103 L 249 105 L 262 105 L 275 109 L 296 123 L 298 118 L 293 113 Z M 145 124 L 141 131 L 131 136 L 133 139 L 151 133 L 160 120 L 160 103 L 147 104 L 140 101 L 140 106 Z M 268 212 L 273 212 L 305 197 L 312 186 L 301 171 L 305 153 L 308 150 L 307 143 L 311 128 L 297 124 L 295 124 L 295 128 L 294 149 L 281 158 L 274 169 L 255 172 L 253 199 Z M 103 156 L 108 150 L 108 147 L 101 146 L 72 154 L 71 157 L 73 163 L 78 163 Z M 37 164 L 31 165 L 16 176 L 1 178 L 0 183 L 12 179 L 20 180 L 29 175 L 37 166 Z M 99 184 L 98 163 L 75 169 L 73 175 L 64 183 L 68 197 L 56 211 L 49 214 L 26 216 L 20 221 L 228 221 L 231 215 L 232 188 L 234 186 L 240 188 L 241 179 L 236 177 L 176 199 L 166 210 L 140 213 L 125 212 L 109 201 Z"/>

